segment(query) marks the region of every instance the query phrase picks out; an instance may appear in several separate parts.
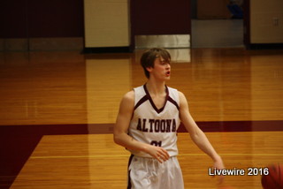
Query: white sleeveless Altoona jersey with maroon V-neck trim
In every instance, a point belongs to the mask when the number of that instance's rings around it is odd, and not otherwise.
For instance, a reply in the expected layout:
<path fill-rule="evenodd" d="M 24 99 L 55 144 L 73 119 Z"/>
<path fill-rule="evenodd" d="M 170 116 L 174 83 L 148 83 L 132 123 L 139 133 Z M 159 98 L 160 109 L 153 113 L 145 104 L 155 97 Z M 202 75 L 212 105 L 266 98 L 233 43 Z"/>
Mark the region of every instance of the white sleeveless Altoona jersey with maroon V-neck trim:
<path fill-rule="evenodd" d="M 128 134 L 134 140 L 163 147 L 170 156 L 178 155 L 179 107 L 179 93 L 174 88 L 166 87 L 164 106 L 159 110 L 145 85 L 134 88 L 134 114 Z M 141 151 L 130 151 L 133 155 L 151 157 Z"/>

